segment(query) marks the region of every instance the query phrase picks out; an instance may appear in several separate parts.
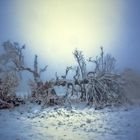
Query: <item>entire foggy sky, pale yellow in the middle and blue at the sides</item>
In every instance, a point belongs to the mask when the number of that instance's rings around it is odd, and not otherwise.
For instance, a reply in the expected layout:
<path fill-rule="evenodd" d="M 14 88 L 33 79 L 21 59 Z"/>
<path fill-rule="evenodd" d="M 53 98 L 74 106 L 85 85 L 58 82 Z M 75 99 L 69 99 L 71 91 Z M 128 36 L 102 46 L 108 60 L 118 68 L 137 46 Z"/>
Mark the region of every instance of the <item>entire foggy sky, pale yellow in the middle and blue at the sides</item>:
<path fill-rule="evenodd" d="M 140 71 L 139 13 L 139 0 L 0 0 L 0 43 L 26 44 L 27 63 L 38 54 L 52 75 L 74 64 L 74 48 L 95 56 L 100 46 Z"/>

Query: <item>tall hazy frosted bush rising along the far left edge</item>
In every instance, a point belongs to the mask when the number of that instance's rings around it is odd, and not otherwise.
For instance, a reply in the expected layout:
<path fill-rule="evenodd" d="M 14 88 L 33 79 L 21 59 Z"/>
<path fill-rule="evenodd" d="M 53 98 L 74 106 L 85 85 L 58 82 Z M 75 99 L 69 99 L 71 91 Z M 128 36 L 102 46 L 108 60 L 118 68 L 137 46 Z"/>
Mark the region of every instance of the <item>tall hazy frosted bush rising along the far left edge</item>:
<path fill-rule="evenodd" d="M 17 104 L 16 89 L 20 82 L 17 65 L 23 63 L 19 58 L 20 49 L 18 44 L 4 42 L 3 51 L 0 54 L 0 108 L 8 108 Z M 10 104 L 11 103 L 11 104 Z"/>

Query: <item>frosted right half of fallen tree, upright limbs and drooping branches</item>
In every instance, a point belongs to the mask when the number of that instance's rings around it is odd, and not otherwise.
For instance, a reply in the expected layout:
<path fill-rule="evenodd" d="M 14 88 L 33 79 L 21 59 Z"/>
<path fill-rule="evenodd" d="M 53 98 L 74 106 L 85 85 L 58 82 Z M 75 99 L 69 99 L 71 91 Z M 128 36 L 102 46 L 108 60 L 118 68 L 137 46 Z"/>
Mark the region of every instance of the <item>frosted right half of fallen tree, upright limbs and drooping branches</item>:
<path fill-rule="evenodd" d="M 79 92 L 76 90 L 76 86 L 80 87 L 79 100 L 101 106 L 120 104 L 126 101 L 121 75 L 115 70 L 116 60 L 111 55 L 105 54 L 103 47 L 95 60 L 92 57 L 88 60 L 94 65 L 92 71 L 88 71 L 87 62 L 81 51 L 75 50 L 73 54 L 78 66 L 74 75 L 72 92 Z"/>

